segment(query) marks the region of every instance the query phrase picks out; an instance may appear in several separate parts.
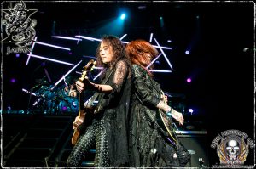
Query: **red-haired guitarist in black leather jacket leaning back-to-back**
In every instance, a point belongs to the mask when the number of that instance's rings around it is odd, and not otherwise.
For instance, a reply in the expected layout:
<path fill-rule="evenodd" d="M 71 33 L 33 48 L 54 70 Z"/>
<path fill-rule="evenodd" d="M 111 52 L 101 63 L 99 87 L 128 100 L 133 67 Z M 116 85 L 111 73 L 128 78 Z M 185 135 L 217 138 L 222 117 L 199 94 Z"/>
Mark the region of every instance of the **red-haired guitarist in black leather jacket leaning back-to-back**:
<path fill-rule="evenodd" d="M 158 51 L 149 42 L 135 40 L 126 45 L 125 54 L 131 60 L 131 166 L 185 166 L 189 151 L 172 128 L 172 118 L 183 125 L 183 115 L 166 104 L 160 84 L 148 70 Z"/>

